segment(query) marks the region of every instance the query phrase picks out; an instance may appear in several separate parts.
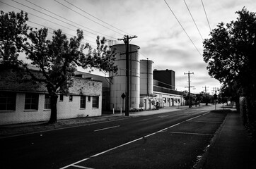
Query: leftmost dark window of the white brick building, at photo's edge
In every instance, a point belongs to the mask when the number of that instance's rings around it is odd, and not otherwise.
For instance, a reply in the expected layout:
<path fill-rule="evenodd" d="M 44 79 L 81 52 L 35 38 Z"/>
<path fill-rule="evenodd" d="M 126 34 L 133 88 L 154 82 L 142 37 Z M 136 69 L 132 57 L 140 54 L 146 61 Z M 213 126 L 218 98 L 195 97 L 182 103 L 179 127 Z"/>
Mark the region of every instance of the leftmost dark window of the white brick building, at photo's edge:
<path fill-rule="evenodd" d="M 0 111 L 16 110 L 16 93 L 0 92 Z"/>

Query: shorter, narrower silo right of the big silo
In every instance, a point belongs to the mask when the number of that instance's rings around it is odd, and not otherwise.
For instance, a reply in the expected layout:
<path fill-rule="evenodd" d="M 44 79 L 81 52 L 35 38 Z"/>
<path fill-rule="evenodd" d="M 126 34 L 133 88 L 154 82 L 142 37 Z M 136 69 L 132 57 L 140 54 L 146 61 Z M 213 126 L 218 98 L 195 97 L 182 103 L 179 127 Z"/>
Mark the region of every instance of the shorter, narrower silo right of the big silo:
<path fill-rule="evenodd" d="M 153 61 L 141 60 L 140 61 L 140 94 L 149 96 L 153 94 Z"/>

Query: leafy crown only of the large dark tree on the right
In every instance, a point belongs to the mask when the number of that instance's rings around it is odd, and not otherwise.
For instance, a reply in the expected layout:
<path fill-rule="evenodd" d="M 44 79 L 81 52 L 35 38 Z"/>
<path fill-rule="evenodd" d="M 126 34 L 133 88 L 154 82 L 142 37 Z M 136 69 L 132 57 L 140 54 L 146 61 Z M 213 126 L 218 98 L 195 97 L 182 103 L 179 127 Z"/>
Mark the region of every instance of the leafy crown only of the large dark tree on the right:
<path fill-rule="evenodd" d="M 245 8 L 236 13 L 237 20 L 219 23 L 204 40 L 203 57 L 211 77 L 223 84 L 237 81 L 245 86 L 256 75 L 256 15 Z"/>

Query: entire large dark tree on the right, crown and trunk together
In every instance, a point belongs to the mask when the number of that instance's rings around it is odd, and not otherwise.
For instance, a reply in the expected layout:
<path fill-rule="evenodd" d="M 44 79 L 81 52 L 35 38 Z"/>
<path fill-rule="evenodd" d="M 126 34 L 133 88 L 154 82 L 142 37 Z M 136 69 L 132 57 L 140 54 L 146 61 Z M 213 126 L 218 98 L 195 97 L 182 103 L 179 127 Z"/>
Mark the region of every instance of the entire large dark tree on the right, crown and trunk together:
<path fill-rule="evenodd" d="M 209 75 L 223 84 L 223 91 L 238 97 L 236 106 L 239 96 L 245 97 L 245 123 L 256 129 L 256 14 L 246 8 L 236 14 L 235 21 L 219 23 L 204 40 L 203 58 Z"/>

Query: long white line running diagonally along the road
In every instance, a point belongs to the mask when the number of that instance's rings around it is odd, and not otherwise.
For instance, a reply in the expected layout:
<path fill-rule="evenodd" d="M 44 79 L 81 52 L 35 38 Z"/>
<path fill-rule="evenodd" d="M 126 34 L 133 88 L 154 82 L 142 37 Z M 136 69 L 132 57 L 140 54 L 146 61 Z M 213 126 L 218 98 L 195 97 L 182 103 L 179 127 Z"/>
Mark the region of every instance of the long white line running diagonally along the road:
<path fill-rule="evenodd" d="M 194 117 L 194 118 L 198 118 L 198 117 L 200 117 L 200 116 L 201 116 L 201 115 L 198 115 L 197 117 Z M 192 119 L 194 119 L 194 118 L 190 118 L 189 120 L 192 120 Z M 187 121 L 187 120 L 185 120 L 185 121 Z M 134 140 L 132 140 L 131 142 L 127 142 L 127 143 L 121 144 L 121 145 L 119 145 L 119 146 L 115 146 L 115 147 L 113 147 L 112 149 L 107 149 L 106 151 L 100 152 L 100 153 L 95 154 L 95 155 L 93 155 L 93 156 L 90 156 L 90 157 L 88 157 L 88 158 L 83 158 L 81 161 L 76 161 L 75 163 L 71 163 L 71 164 L 66 165 L 66 166 L 64 166 L 63 168 L 59 168 L 59 169 L 69 168 L 69 167 L 71 167 L 72 165 L 76 165 L 77 163 L 81 163 L 81 162 L 83 162 L 83 161 L 88 161 L 89 159 L 91 159 L 91 158 L 93 158 L 93 157 L 95 157 L 95 156 L 100 156 L 101 154 L 105 154 L 105 153 L 107 153 L 107 152 L 109 152 L 109 151 L 118 149 L 118 148 L 120 148 L 120 147 L 122 147 L 122 146 L 126 146 L 127 144 L 131 144 L 131 143 L 133 143 L 133 142 L 139 141 L 140 139 L 144 139 L 144 138 L 146 138 L 146 137 L 150 137 L 150 136 L 152 136 L 153 134 L 157 134 L 157 133 L 159 133 L 159 132 L 163 132 L 164 130 L 168 130 L 168 129 L 171 128 L 171 127 L 175 127 L 176 125 L 180 125 L 181 123 L 184 123 L 185 121 L 182 121 L 182 122 L 177 123 L 177 124 L 175 124 L 175 125 L 171 125 L 171 126 L 166 127 L 166 128 L 164 128 L 164 129 L 162 129 L 162 130 L 158 130 L 157 132 L 153 132 L 153 133 L 148 134 L 148 135 L 146 135 L 146 136 L 144 136 L 144 137 L 140 137 L 139 139 L 134 139 Z"/>

